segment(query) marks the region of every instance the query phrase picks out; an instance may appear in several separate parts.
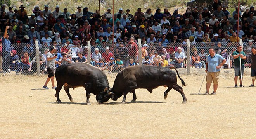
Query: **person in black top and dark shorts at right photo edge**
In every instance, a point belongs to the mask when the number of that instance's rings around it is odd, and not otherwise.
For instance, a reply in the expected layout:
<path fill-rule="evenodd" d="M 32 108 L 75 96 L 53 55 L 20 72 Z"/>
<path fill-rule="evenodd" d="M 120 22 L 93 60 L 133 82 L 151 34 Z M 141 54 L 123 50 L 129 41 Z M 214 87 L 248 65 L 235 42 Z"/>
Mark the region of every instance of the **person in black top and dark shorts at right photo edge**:
<path fill-rule="evenodd" d="M 256 79 L 256 46 L 252 47 L 251 59 L 252 59 L 252 63 L 251 63 L 252 84 L 249 87 L 254 87 L 254 81 Z"/>

